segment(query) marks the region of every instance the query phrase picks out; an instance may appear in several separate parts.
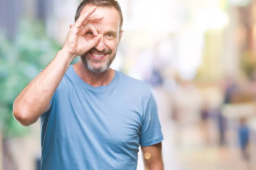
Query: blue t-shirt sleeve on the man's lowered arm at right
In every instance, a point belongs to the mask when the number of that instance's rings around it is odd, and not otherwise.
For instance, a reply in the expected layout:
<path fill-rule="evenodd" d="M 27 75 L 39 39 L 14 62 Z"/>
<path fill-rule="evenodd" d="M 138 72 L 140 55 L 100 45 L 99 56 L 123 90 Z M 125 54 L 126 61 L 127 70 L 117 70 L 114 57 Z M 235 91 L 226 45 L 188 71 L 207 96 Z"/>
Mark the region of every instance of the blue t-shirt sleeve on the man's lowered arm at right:
<path fill-rule="evenodd" d="M 163 133 L 159 122 L 157 103 L 151 94 L 140 129 L 140 145 L 146 147 L 162 141 Z"/>

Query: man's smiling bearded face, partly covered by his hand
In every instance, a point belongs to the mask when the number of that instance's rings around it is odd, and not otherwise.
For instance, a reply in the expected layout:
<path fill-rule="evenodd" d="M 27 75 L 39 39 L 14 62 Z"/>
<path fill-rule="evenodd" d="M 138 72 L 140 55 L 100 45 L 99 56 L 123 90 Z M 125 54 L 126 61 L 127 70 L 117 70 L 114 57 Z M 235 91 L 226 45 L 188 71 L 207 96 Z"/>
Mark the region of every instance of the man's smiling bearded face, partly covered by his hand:
<path fill-rule="evenodd" d="M 86 5 L 81 11 L 84 14 L 92 5 Z M 120 16 L 119 12 L 113 7 L 96 7 L 96 11 L 92 15 L 102 15 L 104 18 L 100 21 L 91 22 L 101 34 L 99 44 L 94 48 L 81 55 L 81 61 L 84 66 L 94 73 L 102 73 L 107 71 L 116 57 L 117 46 L 122 37 L 120 33 Z M 93 39 L 93 34 L 88 31 L 84 38 L 89 41 Z"/>

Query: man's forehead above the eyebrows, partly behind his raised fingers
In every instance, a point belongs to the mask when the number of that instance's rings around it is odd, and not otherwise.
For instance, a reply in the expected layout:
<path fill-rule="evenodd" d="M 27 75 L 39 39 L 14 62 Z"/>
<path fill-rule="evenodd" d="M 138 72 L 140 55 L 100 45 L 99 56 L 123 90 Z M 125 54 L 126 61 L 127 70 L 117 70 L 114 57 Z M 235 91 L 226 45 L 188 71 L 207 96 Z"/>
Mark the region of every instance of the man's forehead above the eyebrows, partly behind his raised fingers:
<path fill-rule="evenodd" d="M 85 12 L 89 11 L 92 7 L 93 7 L 93 5 L 90 5 L 90 4 L 84 6 L 84 8 L 81 11 L 80 16 L 82 14 L 84 14 Z M 120 21 L 121 21 L 119 12 L 114 7 L 96 6 L 96 11 L 92 15 L 102 15 L 103 16 L 103 20 L 99 21 L 99 23 L 108 22 L 108 23 L 112 23 L 112 24 L 117 24 L 119 26 Z"/>

